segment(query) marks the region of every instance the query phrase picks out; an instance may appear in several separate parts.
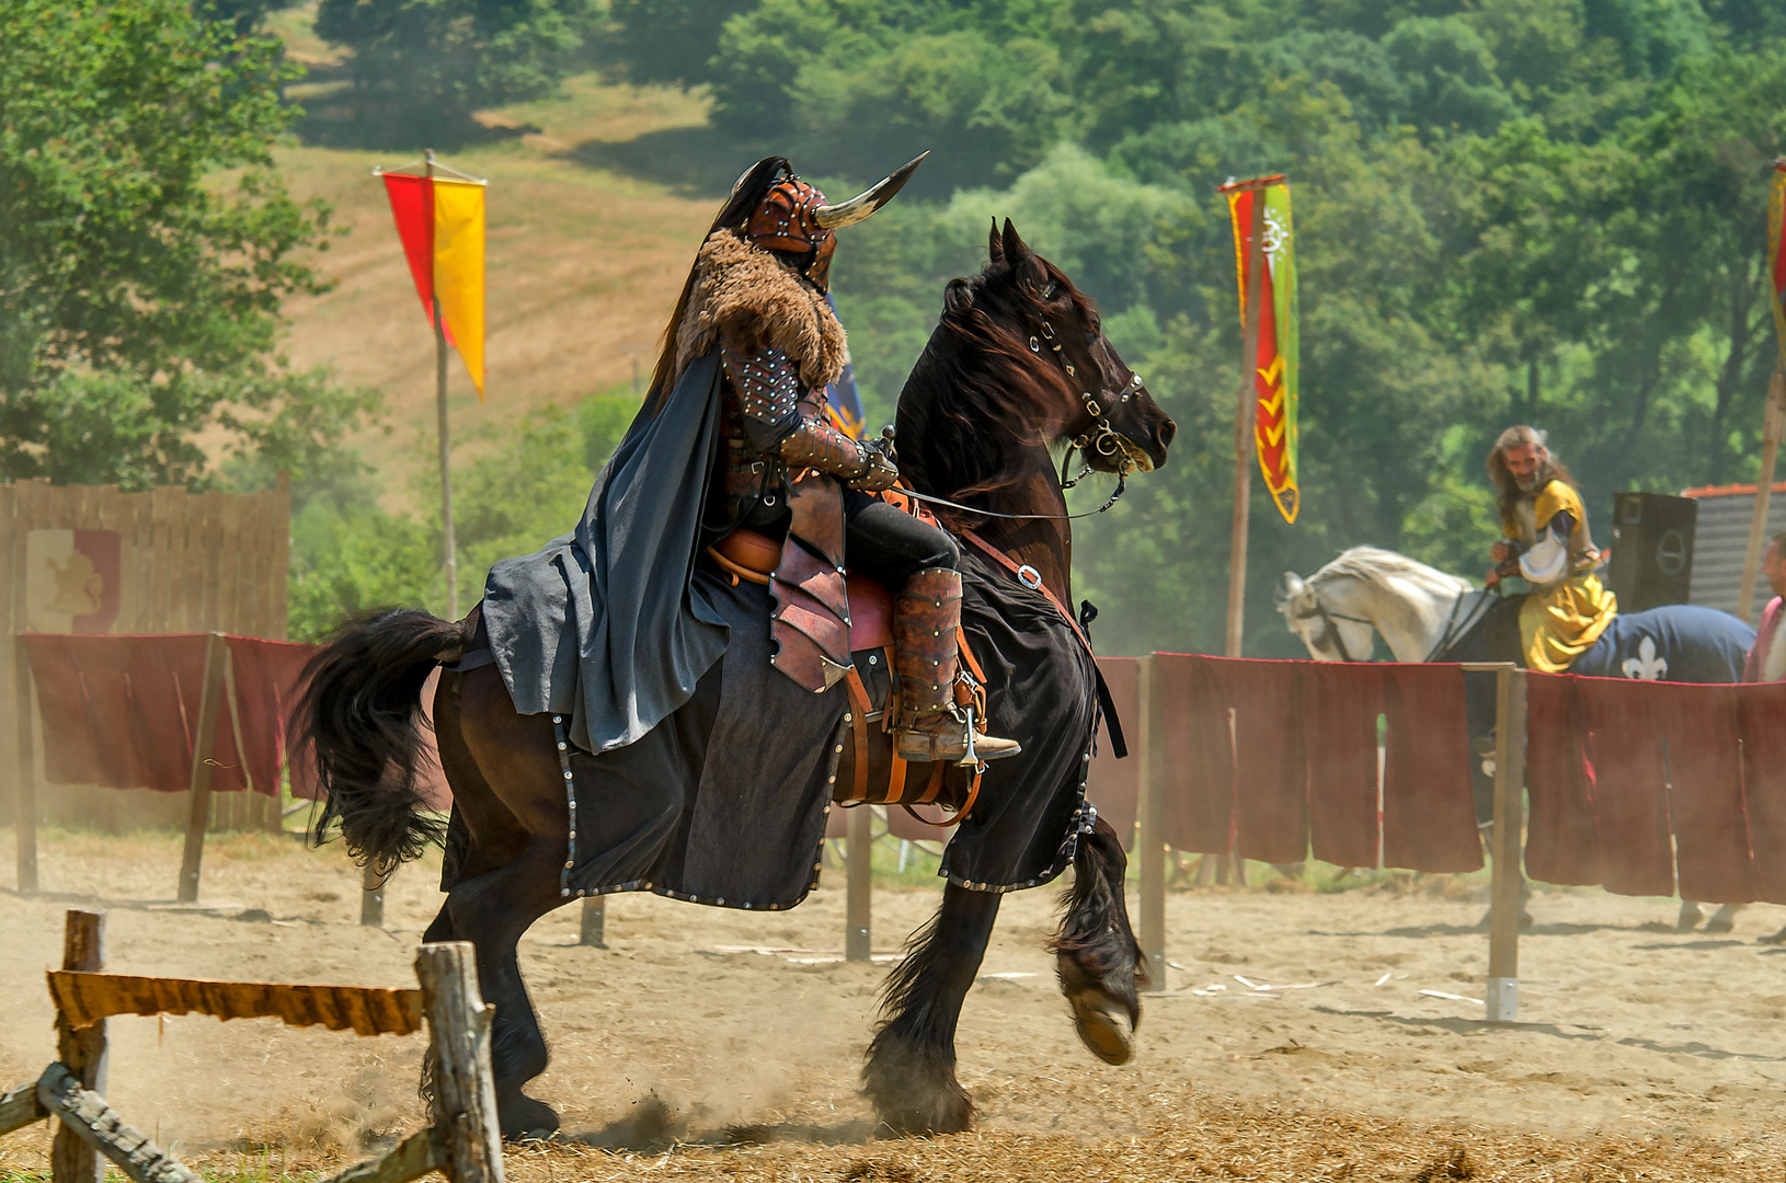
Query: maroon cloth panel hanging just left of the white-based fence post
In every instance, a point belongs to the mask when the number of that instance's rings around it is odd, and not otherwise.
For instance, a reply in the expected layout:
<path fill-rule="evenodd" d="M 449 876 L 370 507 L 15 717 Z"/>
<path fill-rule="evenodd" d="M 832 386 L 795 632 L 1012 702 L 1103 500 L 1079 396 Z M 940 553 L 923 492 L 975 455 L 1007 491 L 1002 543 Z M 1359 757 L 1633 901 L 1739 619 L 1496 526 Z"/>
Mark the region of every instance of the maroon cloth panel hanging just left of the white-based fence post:
<path fill-rule="evenodd" d="M 1388 739 L 1382 864 L 1456 873 L 1482 867 L 1470 790 L 1470 728 L 1456 666 L 1381 666 Z M 1314 748 L 1309 748 L 1314 753 Z M 1309 792 L 1316 762 L 1309 760 Z"/>

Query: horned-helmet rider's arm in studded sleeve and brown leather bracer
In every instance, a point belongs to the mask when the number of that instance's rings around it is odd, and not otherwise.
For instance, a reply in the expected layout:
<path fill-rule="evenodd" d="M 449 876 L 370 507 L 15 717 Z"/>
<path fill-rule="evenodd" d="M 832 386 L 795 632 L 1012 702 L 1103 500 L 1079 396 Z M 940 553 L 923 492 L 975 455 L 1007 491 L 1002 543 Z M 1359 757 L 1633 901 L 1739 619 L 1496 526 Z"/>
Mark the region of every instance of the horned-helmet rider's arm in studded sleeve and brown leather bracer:
<path fill-rule="evenodd" d="M 879 453 L 825 423 L 814 400 L 800 398 L 800 376 L 793 362 L 777 348 L 745 348 L 730 335 L 720 339 L 720 364 L 743 409 L 745 435 L 766 455 L 780 457 L 788 467 L 813 467 L 847 482 L 864 482 L 886 489 L 897 469 L 877 464 Z M 880 480 L 886 484 L 880 484 Z"/>

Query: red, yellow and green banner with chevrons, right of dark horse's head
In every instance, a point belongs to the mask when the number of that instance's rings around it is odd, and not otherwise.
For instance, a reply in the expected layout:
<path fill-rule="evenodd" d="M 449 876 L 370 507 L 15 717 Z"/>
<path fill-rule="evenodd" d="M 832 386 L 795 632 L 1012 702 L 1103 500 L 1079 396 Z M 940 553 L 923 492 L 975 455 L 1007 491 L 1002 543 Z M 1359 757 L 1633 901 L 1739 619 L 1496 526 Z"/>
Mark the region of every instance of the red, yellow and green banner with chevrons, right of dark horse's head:
<path fill-rule="evenodd" d="M 1254 202 L 1264 202 L 1261 257 L 1264 275 L 1259 284 L 1259 348 L 1250 359 L 1257 393 L 1254 439 L 1259 471 L 1272 501 L 1284 521 L 1295 521 L 1302 509 L 1297 484 L 1297 261 L 1289 232 L 1289 186 L 1282 177 L 1231 182 L 1220 189 L 1229 200 L 1234 223 L 1234 271 L 1239 277 L 1239 323 L 1247 327 L 1247 275 L 1250 257 Z"/>

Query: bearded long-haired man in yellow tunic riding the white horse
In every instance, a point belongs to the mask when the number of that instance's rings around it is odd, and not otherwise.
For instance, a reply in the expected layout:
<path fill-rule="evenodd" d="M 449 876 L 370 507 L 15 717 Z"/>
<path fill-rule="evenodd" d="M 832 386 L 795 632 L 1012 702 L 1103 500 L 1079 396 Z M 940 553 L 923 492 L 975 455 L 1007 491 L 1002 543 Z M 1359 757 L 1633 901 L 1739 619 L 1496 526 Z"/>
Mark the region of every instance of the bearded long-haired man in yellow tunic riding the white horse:
<path fill-rule="evenodd" d="M 1600 551 L 1568 469 L 1532 426 L 1509 426 L 1488 453 L 1500 498 L 1504 541 L 1490 548 L 1488 587 L 1522 576 L 1532 591 L 1520 607 L 1527 669 L 1563 673 L 1593 648 L 1618 616 L 1618 598 L 1593 573 Z"/>

